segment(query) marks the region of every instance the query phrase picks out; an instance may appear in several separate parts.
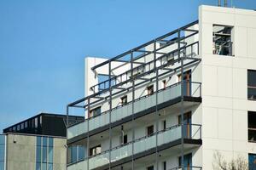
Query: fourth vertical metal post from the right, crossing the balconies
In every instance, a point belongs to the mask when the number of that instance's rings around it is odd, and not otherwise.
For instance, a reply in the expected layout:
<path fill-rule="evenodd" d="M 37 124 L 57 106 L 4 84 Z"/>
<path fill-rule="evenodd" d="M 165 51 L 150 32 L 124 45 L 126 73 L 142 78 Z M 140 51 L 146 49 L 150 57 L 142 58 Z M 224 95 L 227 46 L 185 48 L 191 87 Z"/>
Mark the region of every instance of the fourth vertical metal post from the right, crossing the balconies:
<path fill-rule="evenodd" d="M 111 84 L 111 61 L 108 64 L 108 88 L 109 88 L 109 170 L 111 169 L 111 151 L 112 151 L 112 129 L 111 129 L 111 110 L 112 110 L 112 84 Z"/>

